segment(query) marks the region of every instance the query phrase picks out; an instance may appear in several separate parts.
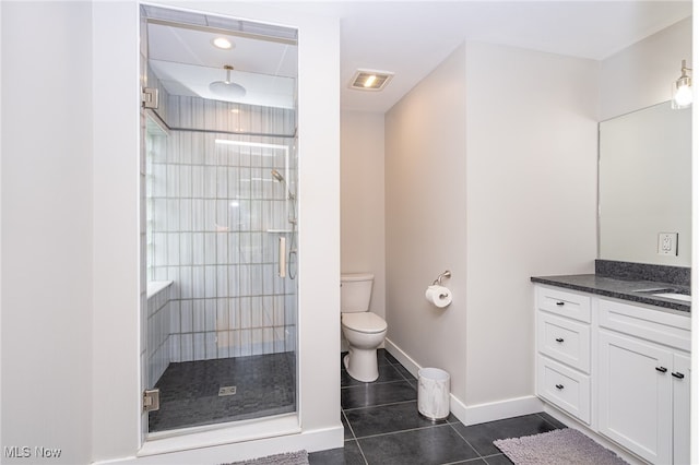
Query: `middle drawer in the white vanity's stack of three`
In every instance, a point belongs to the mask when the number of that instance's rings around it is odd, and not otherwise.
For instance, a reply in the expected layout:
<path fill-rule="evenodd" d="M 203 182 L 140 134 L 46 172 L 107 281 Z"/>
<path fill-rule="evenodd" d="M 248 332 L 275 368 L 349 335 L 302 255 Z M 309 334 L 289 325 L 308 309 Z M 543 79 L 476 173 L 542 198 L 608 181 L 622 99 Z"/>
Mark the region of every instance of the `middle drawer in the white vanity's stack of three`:
<path fill-rule="evenodd" d="M 590 373 L 590 325 L 538 312 L 538 351 Z"/>

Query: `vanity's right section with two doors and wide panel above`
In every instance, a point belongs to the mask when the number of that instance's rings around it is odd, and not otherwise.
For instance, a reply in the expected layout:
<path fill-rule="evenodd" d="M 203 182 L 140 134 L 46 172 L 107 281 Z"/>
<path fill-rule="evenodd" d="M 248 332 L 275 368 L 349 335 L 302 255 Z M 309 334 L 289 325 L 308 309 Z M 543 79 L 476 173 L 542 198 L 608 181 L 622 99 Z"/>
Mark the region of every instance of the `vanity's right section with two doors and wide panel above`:
<path fill-rule="evenodd" d="M 689 318 L 599 300 L 599 430 L 654 464 L 689 463 Z"/>

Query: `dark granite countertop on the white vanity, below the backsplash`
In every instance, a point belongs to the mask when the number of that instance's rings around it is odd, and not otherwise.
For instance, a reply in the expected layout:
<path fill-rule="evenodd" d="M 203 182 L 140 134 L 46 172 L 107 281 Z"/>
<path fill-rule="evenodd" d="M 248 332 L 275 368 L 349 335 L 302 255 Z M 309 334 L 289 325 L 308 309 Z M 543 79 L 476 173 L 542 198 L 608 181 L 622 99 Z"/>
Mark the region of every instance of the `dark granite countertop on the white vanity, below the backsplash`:
<path fill-rule="evenodd" d="M 616 299 L 630 300 L 663 307 L 683 312 L 689 312 L 690 302 L 653 296 L 652 293 L 639 293 L 642 289 L 676 289 L 682 294 L 689 294 L 689 286 L 661 283 L 656 281 L 620 279 L 596 274 L 578 274 L 562 276 L 532 276 L 532 283 L 565 287 Z"/>

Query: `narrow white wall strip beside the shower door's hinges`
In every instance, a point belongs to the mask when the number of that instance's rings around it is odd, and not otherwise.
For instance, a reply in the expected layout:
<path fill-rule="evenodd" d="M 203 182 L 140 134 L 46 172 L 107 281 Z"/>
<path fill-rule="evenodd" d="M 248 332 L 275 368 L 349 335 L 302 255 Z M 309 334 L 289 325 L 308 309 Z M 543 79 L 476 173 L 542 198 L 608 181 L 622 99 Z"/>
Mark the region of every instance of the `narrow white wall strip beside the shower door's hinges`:
<path fill-rule="evenodd" d="M 133 2 L 93 4 L 93 460 L 139 446 L 139 49 Z"/>

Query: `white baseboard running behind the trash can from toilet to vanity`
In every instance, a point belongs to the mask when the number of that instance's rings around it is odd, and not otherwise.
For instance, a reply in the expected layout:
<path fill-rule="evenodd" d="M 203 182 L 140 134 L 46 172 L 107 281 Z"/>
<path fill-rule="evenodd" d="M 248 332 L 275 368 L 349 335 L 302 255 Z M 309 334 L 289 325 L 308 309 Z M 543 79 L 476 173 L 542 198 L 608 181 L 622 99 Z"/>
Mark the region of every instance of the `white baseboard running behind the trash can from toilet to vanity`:
<path fill-rule="evenodd" d="M 417 378 L 417 372 L 423 367 L 420 367 L 388 337 L 386 338 L 386 350 L 403 367 L 405 367 L 411 374 Z M 450 412 L 459 418 L 459 421 L 466 426 L 501 420 L 503 418 L 518 417 L 521 415 L 536 414 L 544 410 L 544 404 L 534 395 L 507 398 L 478 405 L 466 405 L 462 400 L 453 394 L 450 394 L 449 397 Z"/>

